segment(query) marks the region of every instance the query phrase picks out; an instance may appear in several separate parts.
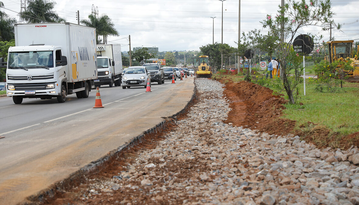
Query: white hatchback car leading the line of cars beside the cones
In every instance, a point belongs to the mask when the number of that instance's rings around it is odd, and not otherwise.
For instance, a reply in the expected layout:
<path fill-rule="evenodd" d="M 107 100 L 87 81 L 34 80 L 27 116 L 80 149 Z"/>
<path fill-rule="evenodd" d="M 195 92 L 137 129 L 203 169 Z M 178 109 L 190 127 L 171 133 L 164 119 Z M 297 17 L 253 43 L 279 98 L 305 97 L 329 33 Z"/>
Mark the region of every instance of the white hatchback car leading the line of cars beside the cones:
<path fill-rule="evenodd" d="M 151 75 L 147 68 L 144 66 L 132 66 L 126 69 L 126 72 L 122 77 L 122 89 L 129 87 L 144 86 L 147 87 L 147 79 L 150 80 L 151 86 Z"/>

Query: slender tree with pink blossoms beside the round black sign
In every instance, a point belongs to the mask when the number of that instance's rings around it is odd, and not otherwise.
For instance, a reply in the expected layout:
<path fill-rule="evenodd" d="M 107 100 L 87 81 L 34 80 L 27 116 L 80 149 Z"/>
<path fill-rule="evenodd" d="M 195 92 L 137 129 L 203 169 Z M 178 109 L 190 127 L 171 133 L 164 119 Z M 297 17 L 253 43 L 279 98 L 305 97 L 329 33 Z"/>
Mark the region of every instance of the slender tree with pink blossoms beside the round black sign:
<path fill-rule="evenodd" d="M 280 38 L 284 34 L 284 41 L 279 46 L 279 58 L 281 61 L 282 85 L 285 89 L 290 103 L 295 103 L 295 95 L 298 95 L 298 77 L 289 76 L 289 71 L 298 69 L 293 55 L 293 40 L 298 35 L 298 30 L 307 26 L 318 26 L 327 28 L 335 25 L 331 20 L 334 13 L 331 11 L 330 0 L 311 0 L 306 3 L 305 0 L 287 0 L 284 6 L 279 6 L 279 15 L 272 18 L 267 15 L 261 23 L 264 28 L 269 28 L 272 35 Z M 282 26 L 281 26 L 282 25 Z M 340 28 L 340 25 L 337 25 Z M 294 90 L 297 92 L 294 92 Z"/>

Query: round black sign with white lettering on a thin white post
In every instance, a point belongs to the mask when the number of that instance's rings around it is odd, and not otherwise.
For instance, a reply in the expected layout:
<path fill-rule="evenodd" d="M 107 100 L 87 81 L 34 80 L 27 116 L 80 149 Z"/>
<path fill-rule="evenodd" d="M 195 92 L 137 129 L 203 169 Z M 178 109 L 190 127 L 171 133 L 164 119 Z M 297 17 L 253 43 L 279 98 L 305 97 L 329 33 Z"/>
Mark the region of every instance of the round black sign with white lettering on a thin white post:
<path fill-rule="evenodd" d="M 303 78 L 304 78 L 304 95 L 306 95 L 306 55 L 312 52 L 314 42 L 312 37 L 306 34 L 300 34 L 294 39 L 293 49 L 303 55 Z"/>

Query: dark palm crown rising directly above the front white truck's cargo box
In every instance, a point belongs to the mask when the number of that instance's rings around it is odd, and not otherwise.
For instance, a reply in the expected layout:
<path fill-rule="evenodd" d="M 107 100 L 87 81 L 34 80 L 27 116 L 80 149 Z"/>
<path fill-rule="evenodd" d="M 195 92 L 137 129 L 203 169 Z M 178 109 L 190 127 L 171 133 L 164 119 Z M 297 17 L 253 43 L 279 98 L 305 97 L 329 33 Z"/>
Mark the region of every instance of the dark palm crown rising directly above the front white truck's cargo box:
<path fill-rule="evenodd" d="M 47 3 L 46 0 L 28 0 L 26 10 L 20 12 L 20 18 L 27 23 L 65 22 L 64 18 L 52 10 L 55 4 L 54 1 Z"/>

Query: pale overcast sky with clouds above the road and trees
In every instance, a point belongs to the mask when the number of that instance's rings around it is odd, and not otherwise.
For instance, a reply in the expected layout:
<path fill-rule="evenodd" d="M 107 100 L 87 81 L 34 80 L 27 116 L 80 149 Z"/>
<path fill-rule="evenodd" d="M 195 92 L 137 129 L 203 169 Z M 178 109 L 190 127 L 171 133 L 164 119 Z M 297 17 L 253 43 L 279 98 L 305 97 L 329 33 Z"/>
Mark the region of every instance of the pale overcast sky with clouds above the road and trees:
<path fill-rule="evenodd" d="M 20 0 L 0 0 L 4 7 L 20 11 Z M 222 2 L 219 0 L 56 0 L 55 10 L 67 22 L 77 23 L 87 19 L 92 5 L 98 8 L 99 15 L 107 14 L 120 33 L 109 37 L 108 43 L 122 44 L 122 51 L 128 51 L 128 36 L 131 47 L 158 47 L 159 51 L 199 50 L 199 47 L 212 43 L 212 19 L 214 19 L 214 41 L 221 42 Z M 223 43 L 236 46 L 238 40 L 238 2 L 223 2 Z M 342 32 L 332 30 L 336 40 L 359 39 L 359 1 L 332 0 L 334 21 L 344 24 Z M 309 3 L 309 1 L 308 1 Z M 280 0 L 241 0 L 241 33 L 252 29 L 262 29 L 260 21 L 266 14 L 276 15 Z M 10 16 L 19 19 L 15 12 L 2 9 Z M 266 30 L 263 30 L 266 33 Z M 306 28 L 299 33 L 322 34 L 329 40 L 329 32 L 319 27 Z M 299 34 L 298 33 L 298 34 Z"/>

